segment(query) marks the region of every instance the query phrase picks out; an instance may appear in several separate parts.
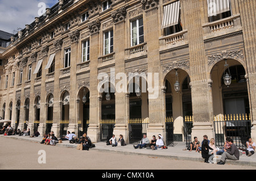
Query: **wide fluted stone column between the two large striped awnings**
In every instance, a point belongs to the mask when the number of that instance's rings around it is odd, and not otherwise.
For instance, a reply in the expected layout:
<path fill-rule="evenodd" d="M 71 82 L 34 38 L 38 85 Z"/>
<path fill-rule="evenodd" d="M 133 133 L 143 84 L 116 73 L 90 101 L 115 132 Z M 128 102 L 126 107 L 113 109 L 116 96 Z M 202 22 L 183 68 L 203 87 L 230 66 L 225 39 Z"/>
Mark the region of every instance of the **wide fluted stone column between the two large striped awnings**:
<path fill-rule="evenodd" d="M 187 18 L 189 39 L 189 65 L 191 69 L 191 96 L 193 111 L 192 135 L 199 140 L 206 134 L 208 138 L 214 137 L 212 90 L 208 86 L 207 60 L 203 42 L 202 19 L 200 16 L 200 1 L 183 1 Z M 203 13 L 203 12 L 202 12 Z"/>

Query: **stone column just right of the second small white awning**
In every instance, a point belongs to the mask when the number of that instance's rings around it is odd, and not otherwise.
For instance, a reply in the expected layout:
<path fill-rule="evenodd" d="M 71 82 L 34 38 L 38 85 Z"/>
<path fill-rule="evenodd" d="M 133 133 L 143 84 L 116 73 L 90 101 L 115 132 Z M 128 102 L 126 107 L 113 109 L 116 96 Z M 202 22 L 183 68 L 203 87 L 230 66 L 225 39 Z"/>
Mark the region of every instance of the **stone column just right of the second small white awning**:
<path fill-rule="evenodd" d="M 60 136 L 60 120 L 61 120 L 61 106 L 60 104 L 60 69 L 61 69 L 61 48 L 63 40 L 56 40 L 53 45 L 55 46 L 55 71 L 54 71 L 54 90 L 53 90 L 53 124 L 52 131 L 57 137 Z"/>

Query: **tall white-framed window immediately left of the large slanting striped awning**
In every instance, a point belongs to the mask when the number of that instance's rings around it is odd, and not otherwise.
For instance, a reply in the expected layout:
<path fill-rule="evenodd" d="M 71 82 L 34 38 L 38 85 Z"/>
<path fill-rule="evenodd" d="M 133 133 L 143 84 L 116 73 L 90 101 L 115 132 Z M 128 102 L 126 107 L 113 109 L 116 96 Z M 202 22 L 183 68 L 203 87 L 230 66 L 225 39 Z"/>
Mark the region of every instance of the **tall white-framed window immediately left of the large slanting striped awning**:
<path fill-rule="evenodd" d="M 131 22 L 131 47 L 144 42 L 143 18 Z"/>

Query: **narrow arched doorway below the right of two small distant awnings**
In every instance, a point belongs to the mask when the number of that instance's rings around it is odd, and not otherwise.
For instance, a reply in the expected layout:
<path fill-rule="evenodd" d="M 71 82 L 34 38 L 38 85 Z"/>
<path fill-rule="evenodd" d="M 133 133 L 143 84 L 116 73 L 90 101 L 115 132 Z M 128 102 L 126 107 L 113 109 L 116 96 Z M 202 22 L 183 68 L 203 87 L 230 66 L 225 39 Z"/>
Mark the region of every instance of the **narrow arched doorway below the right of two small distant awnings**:
<path fill-rule="evenodd" d="M 46 134 L 51 132 L 53 123 L 53 95 L 49 94 L 47 96 L 47 120 L 46 120 Z"/>

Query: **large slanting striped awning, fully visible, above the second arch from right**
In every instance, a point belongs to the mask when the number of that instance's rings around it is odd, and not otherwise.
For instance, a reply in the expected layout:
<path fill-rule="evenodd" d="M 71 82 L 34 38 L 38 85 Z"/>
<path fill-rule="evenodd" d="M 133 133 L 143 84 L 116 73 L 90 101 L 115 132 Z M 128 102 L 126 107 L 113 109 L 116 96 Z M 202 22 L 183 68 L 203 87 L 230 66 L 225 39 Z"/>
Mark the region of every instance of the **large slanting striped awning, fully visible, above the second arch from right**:
<path fill-rule="evenodd" d="M 164 6 L 162 29 L 179 23 L 180 1 Z"/>

